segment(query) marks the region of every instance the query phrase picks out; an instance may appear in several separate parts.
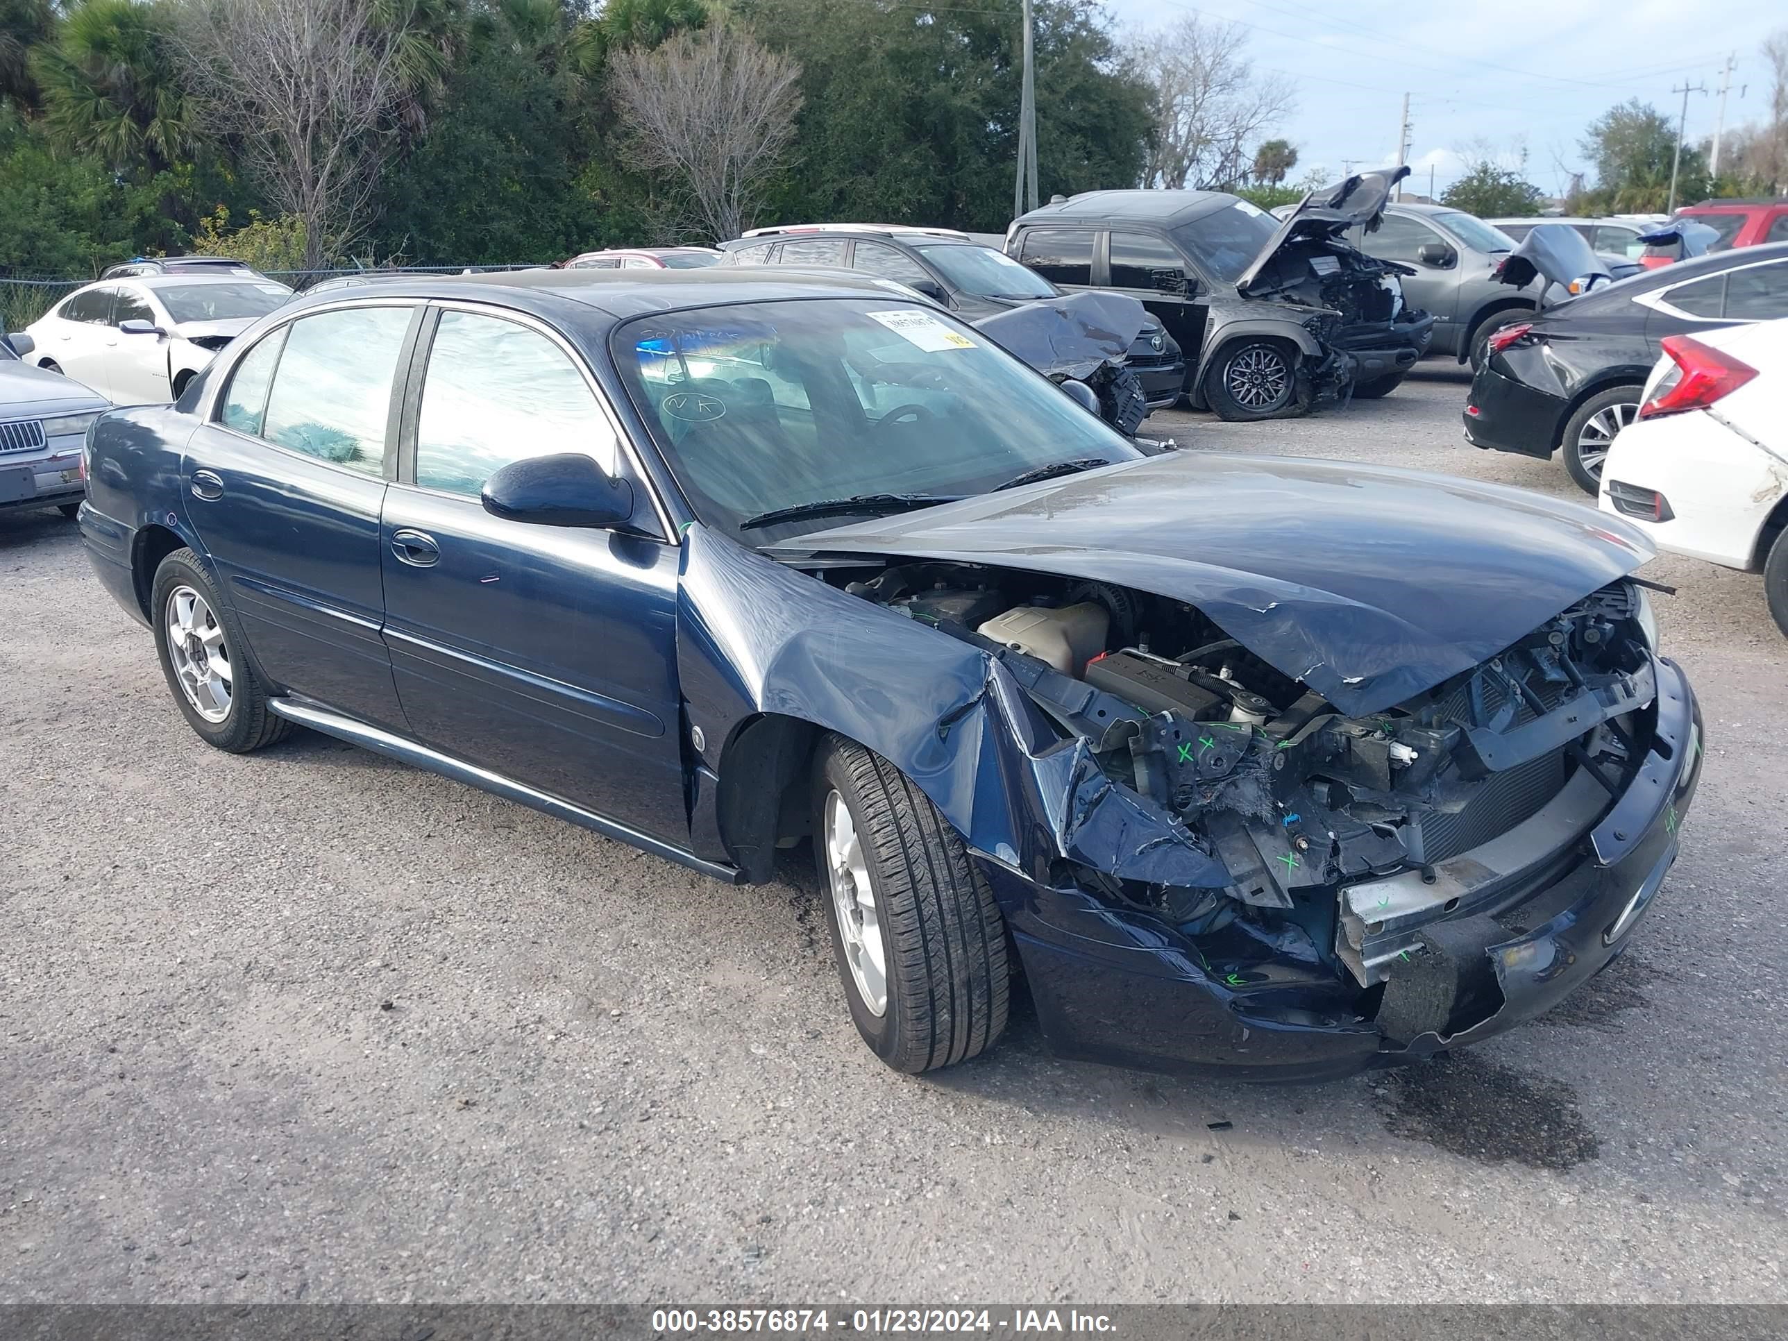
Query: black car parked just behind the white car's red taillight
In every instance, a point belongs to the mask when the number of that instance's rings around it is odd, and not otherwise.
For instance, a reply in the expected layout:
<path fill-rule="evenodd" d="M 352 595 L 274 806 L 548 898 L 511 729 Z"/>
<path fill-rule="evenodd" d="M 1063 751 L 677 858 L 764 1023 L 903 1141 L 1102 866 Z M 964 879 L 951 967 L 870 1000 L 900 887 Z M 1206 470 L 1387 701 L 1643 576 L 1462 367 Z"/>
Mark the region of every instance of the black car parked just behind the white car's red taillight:
<path fill-rule="evenodd" d="M 1715 252 L 1645 270 L 1491 334 L 1472 377 L 1473 447 L 1564 456 L 1595 493 L 1607 447 L 1634 415 L 1659 340 L 1788 316 L 1788 243 Z"/>

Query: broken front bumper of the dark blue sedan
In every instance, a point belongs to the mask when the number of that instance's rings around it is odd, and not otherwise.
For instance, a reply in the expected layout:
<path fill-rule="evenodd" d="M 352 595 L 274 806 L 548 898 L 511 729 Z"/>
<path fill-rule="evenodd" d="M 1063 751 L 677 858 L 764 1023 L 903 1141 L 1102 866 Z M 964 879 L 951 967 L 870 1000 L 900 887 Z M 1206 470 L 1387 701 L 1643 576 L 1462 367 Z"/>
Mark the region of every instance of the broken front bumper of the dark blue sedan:
<path fill-rule="evenodd" d="M 1675 860 L 1700 778 L 1700 712 L 1683 672 L 1656 665 L 1654 746 L 1625 790 L 1561 849 L 1536 848 L 1452 912 L 1443 899 L 1371 1019 L 1359 1014 L 1357 983 L 1316 962 L 1309 940 L 1236 923 L 1189 933 L 1073 880 L 1039 881 L 983 858 L 1051 1048 L 1157 1071 L 1328 1080 L 1548 1010 L 1624 949 Z M 1445 865 L 1459 876 L 1470 858 Z"/>

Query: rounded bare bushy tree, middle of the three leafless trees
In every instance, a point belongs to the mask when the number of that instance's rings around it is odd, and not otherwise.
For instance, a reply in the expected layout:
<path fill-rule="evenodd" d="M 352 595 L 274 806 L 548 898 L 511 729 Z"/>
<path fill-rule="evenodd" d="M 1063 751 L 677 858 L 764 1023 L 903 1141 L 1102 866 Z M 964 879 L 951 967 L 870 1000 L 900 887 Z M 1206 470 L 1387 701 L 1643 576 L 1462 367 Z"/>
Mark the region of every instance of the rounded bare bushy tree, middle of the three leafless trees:
<path fill-rule="evenodd" d="M 608 88 L 635 163 L 669 173 L 701 227 L 737 238 L 783 166 L 801 66 L 724 23 L 610 57 Z"/>

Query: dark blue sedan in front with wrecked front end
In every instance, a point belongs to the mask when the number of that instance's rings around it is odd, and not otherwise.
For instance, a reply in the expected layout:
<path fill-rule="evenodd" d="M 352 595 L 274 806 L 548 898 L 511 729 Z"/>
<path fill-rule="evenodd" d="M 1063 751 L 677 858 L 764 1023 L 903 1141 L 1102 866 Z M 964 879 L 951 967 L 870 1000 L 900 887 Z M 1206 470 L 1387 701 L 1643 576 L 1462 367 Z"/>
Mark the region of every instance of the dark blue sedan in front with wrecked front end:
<path fill-rule="evenodd" d="M 1064 1055 L 1337 1076 L 1618 955 L 1700 769 L 1649 544 L 1085 399 L 871 281 L 367 284 L 102 418 L 82 533 L 220 749 L 302 724 L 733 883 L 812 840 L 903 1071 L 1021 983 Z"/>

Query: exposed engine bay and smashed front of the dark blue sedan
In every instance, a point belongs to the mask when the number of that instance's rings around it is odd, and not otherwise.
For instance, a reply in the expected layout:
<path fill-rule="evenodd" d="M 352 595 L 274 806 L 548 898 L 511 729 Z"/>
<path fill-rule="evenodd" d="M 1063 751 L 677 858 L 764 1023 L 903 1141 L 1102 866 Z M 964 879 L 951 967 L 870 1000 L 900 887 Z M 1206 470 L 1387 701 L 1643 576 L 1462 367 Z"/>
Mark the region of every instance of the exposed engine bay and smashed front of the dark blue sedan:
<path fill-rule="evenodd" d="M 1193 881 L 1091 867 L 1075 880 L 1187 935 L 1232 928 L 1352 992 L 1421 951 L 1413 928 L 1461 901 L 1482 910 L 1493 864 L 1454 858 L 1561 796 L 1606 806 L 1650 747 L 1650 615 L 1631 579 L 1405 703 L 1346 717 L 1180 601 L 949 561 L 848 581 L 860 574 L 831 579 L 996 658 L 1064 747 L 1091 751 L 1100 787 L 1151 803 L 1209 858 Z M 1076 805 L 1100 799 L 1084 789 Z M 1389 905 L 1377 890 L 1400 873 L 1421 883 L 1395 919 L 1348 901 L 1373 889 Z"/>

